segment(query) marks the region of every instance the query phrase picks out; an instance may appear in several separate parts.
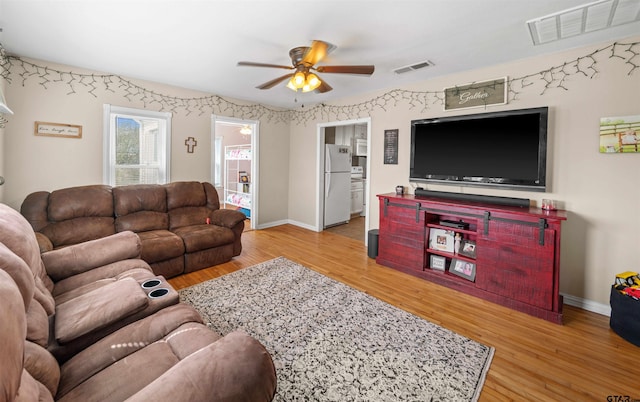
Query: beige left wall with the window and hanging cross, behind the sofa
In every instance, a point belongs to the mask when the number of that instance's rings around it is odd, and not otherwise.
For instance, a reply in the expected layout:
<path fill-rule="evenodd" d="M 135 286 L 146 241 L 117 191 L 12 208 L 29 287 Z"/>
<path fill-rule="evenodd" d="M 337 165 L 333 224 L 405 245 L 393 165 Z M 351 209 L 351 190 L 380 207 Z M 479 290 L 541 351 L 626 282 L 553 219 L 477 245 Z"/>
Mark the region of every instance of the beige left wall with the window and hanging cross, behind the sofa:
<path fill-rule="evenodd" d="M 94 73 L 43 61 L 35 62 L 52 69 Z M 96 97 L 78 83 L 74 87 L 75 94 L 69 94 L 70 87 L 62 83 L 50 82 L 45 88 L 39 84 L 39 80 L 27 79 L 23 85 L 19 73 L 20 69 L 14 66 L 11 83 L 6 85 L 6 97 L 11 99 L 11 108 L 15 114 L 9 117 L 4 135 L 5 152 L 0 154 L 7 180 L 0 201 L 18 209 L 25 196 L 34 191 L 102 183 L 103 104 L 143 109 L 144 103 L 129 101 L 121 89 L 116 88 L 114 93 L 100 85 L 95 91 Z M 135 83 L 173 97 L 196 98 L 207 95 L 157 83 Z M 247 104 L 237 100 L 231 102 Z M 146 108 L 160 109 L 157 104 L 147 104 Z M 202 114 L 196 111 L 187 115 L 184 110 L 173 113 L 172 181 L 211 181 L 211 114 L 227 116 L 225 111 L 206 109 Z M 35 121 L 81 125 L 82 138 L 35 136 Z M 285 123 L 260 123 L 259 148 L 262 157 L 258 167 L 261 181 L 258 195 L 261 205 L 259 219 L 264 219 L 265 222 L 287 218 L 286 201 L 283 202 L 282 197 L 278 198 L 271 192 L 272 189 L 280 191 L 280 194 L 288 192 L 288 132 L 289 126 Z M 198 142 L 193 153 L 187 153 L 184 145 L 187 137 L 194 137 Z"/>

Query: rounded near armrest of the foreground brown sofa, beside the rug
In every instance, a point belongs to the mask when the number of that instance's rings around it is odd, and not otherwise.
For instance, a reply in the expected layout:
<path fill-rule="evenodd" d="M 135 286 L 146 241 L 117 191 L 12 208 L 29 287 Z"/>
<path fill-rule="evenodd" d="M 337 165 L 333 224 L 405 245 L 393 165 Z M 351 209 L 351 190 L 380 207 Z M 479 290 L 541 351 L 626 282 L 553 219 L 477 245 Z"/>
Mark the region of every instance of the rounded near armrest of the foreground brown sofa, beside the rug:
<path fill-rule="evenodd" d="M 143 401 L 271 401 L 276 372 L 267 350 L 243 332 L 187 356 L 127 399 Z"/>

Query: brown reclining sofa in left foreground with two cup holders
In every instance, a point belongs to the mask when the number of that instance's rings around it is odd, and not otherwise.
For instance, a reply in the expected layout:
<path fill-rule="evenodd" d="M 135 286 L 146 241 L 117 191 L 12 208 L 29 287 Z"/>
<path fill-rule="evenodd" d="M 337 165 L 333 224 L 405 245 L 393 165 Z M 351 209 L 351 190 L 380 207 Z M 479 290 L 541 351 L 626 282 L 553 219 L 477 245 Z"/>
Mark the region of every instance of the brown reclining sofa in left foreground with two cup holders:
<path fill-rule="evenodd" d="M 209 330 L 139 258 L 133 232 L 98 237 L 41 254 L 27 220 L 0 204 L 0 401 L 273 399 L 274 365 L 257 340 Z"/>

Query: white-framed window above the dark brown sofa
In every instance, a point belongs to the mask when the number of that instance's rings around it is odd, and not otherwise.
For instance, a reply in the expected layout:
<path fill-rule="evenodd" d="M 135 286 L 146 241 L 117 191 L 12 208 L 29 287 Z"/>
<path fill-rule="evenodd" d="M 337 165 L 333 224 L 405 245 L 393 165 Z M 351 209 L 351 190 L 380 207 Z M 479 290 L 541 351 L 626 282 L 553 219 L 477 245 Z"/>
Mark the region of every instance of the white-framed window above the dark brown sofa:
<path fill-rule="evenodd" d="M 104 105 L 104 182 L 169 182 L 171 113 Z"/>

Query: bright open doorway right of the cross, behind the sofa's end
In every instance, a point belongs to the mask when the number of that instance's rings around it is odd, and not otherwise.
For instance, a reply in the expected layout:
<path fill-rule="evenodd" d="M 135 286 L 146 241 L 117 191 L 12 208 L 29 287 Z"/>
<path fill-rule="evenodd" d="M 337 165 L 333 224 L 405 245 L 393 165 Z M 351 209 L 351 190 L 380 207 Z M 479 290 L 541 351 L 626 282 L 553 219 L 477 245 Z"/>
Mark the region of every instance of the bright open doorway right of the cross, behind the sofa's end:
<path fill-rule="evenodd" d="M 255 120 L 211 116 L 211 182 L 221 208 L 245 214 L 245 228 L 258 222 L 258 135 Z"/>

